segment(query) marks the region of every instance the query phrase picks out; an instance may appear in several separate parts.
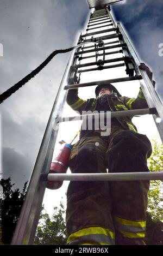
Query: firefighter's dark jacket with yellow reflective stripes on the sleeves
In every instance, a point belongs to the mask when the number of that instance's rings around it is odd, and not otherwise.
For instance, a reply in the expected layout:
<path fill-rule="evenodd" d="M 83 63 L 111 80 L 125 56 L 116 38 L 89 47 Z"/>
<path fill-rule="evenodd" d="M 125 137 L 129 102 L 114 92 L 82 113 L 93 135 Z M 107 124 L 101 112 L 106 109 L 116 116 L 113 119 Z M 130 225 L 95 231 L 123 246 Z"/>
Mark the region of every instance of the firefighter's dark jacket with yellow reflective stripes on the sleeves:
<path fill-rule="evenodd" d="M 82 111 L 91 110 L 92 112 L 98 110 L 98 98 L 92 98 L 83 100 L 78 97 L 78 88 L 72 89 L 68 91 L 67 95 L 67 104 L 71 106 L 74 111 L 77 111 L 82 115 Z M 117 97 L 116 93 L 113 93 L 108 100 L 108 105 L 110 111 L 123 111 L 123 110 L 133 110 L 133 109 L 143 109 L 148 108 L 148 104 L 146 99 L 143 95 L 143 92 L 140 88 L 139 94 L 136 98 L 129 98 L 129 97 Z M 103 109 L 106 110 L 106 109 Z M 126 116 L 126 117 L 118 117 L 114 118 L 116 123 L 118 122 L 119 126 L 121 126 L 125 130 L 131 130 L 137 133 L 137 129 L 133 122 L 131 121 L 133 116 Z M 80 132 L 80 138 L 82 133 Z"/>

